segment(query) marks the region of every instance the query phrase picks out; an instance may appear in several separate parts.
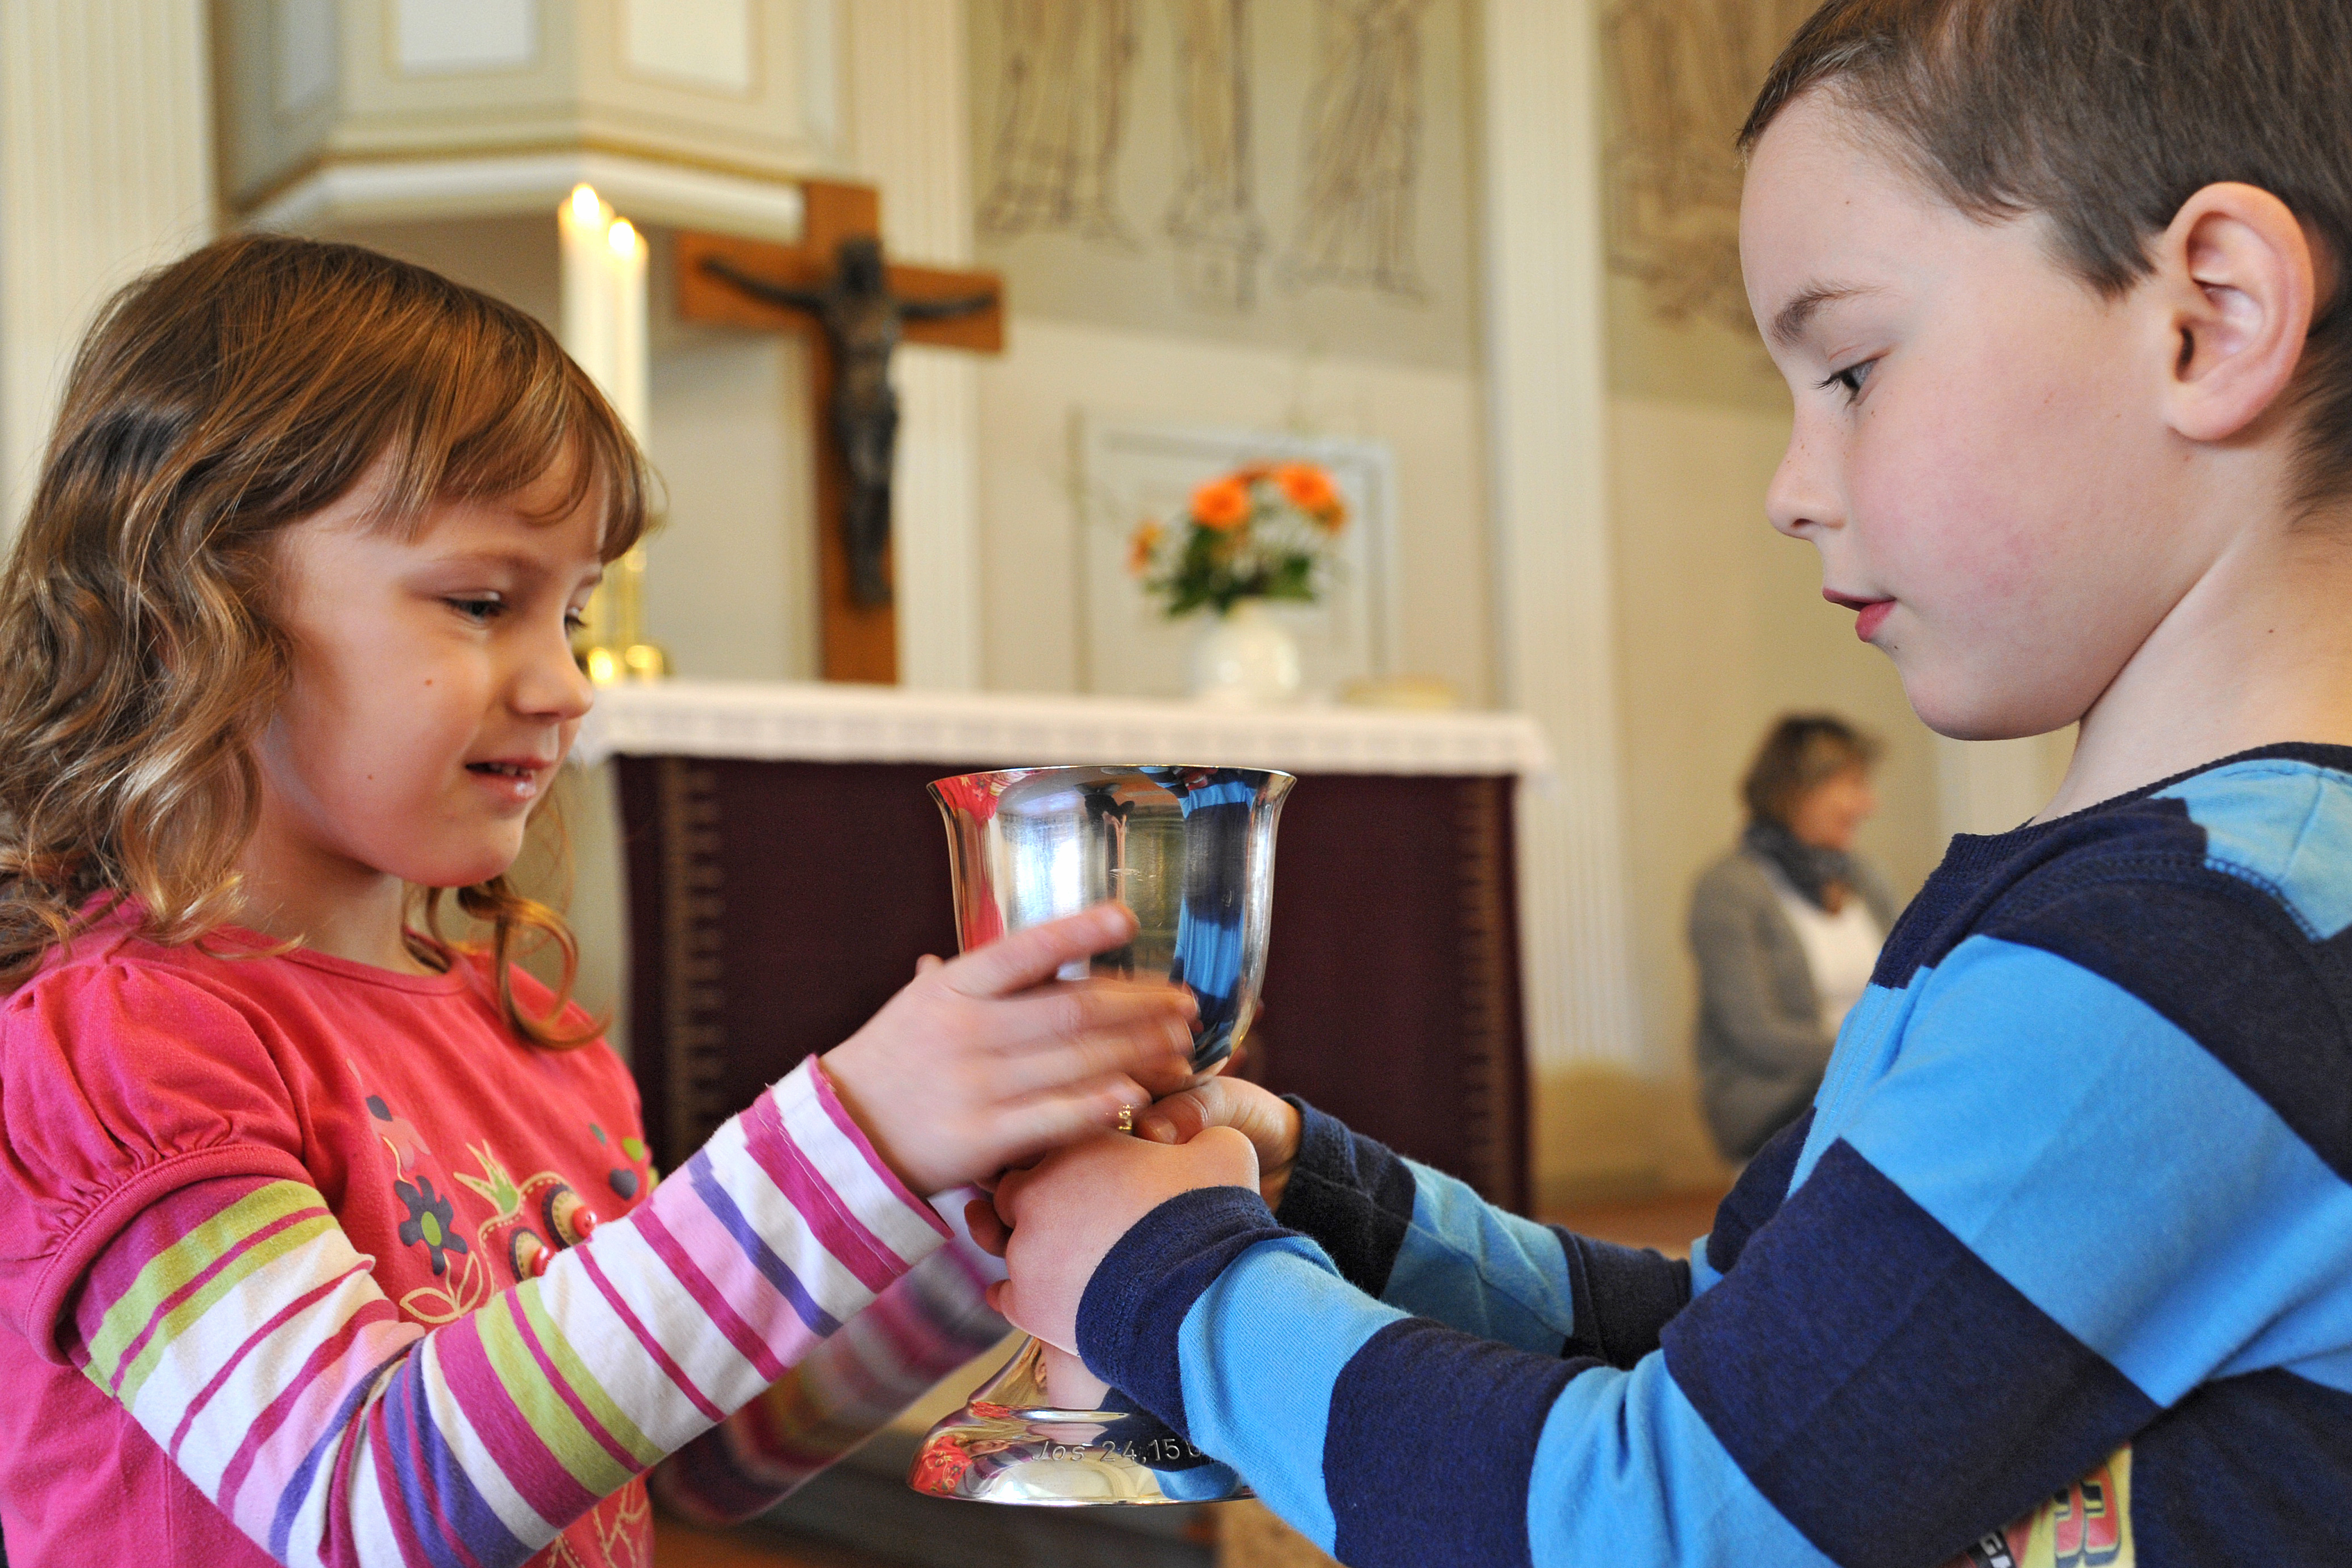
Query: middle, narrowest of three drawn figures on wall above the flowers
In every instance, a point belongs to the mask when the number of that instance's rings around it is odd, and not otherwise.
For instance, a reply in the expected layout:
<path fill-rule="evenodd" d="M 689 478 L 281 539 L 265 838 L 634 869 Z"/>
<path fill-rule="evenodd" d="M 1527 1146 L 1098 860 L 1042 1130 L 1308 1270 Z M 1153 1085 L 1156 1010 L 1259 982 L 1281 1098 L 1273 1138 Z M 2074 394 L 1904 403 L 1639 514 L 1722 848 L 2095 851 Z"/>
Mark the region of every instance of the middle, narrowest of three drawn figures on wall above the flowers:
<path fill-rule="evenodd" d="M 1174 9 L 1176 287 L 1195 303 L 1249 310 L 1265 249 L 1249 195 L 1249 0 L 1174 0 Z"/>

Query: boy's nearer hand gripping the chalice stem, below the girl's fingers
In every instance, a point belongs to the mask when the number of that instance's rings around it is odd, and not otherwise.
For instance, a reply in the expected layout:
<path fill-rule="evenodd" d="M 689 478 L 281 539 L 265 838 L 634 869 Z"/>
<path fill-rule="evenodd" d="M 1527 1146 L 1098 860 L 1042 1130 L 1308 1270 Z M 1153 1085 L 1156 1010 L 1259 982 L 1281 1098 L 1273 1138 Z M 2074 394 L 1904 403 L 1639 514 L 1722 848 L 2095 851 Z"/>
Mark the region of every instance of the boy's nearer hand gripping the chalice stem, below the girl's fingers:
<path fill-rule="evenodd" d="M 1230 1126 L 1192 1143 L 1089 1138 L 997 1182 L 997 1218 L 1011 1227 L 1011 1279 L 988 1305 L 1047 1345 L 1077 1352 L 1077 1302 L 1120 1237 L 1160 1204 L 1195 1187 L 1256 1187 L 1258 1154 Z"/>

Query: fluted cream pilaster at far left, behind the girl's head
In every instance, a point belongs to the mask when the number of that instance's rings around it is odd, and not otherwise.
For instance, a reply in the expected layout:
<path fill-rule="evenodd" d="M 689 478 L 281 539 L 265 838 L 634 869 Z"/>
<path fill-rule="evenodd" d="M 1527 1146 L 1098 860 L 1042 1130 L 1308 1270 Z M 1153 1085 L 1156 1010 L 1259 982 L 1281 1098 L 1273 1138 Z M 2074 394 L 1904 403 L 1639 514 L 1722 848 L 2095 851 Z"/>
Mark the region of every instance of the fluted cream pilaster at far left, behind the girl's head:
<path fill-rule="evenodd" d="M 214 230 L 200 0 L 0 5 L 0 536 L 92 313 Z"/>

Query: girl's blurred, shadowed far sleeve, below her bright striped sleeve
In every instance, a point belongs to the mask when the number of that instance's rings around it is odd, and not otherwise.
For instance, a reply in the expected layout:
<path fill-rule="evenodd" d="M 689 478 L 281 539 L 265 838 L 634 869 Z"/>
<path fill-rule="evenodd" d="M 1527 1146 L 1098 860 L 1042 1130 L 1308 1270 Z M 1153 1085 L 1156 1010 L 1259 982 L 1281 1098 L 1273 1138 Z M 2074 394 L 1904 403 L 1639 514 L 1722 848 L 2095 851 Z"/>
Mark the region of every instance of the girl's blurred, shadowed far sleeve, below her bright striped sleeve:
<path fill-rule="evenodd" d="M 762 1514 L 997 1345 L 1009 1326 L 988 1309 L 985 1291 L 1004 1265 L 964 1229 L 971 1197 L 967 1187 L 934 1201 L 955 1239 L 781 1382 L 670 1455 L 654 1469 L 654 1495 L 706 1526 Z"/>

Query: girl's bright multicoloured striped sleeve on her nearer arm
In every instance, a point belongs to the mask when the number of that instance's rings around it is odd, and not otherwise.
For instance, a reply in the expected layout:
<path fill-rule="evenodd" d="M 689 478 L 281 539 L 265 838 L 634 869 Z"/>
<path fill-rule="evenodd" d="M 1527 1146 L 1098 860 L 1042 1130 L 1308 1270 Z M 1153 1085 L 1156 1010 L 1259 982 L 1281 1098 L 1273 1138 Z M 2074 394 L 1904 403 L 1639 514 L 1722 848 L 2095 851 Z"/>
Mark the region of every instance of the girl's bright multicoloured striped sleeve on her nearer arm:
<path fill-rule="evenodd" d="M 802 1063 L 635 1213 L 430 1333 L 315 1190 L 216 1178 L 99 1251 L 59 1340 L 282 1563 L 520 1563 L 943 1234 Z"/>

